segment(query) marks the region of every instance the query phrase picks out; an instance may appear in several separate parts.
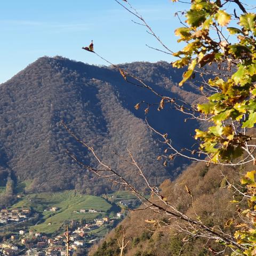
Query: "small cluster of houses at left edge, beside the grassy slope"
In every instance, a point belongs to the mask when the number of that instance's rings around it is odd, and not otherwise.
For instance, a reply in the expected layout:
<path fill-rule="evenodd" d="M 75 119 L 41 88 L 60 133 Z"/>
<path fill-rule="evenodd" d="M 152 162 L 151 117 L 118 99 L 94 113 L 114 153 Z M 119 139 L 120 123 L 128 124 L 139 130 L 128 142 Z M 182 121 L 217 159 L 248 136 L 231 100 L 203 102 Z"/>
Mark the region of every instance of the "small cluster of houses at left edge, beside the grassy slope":
<path fill-rule="evenodd" d="M 7 225 L 12 222 L 21 222 L 31 215 L 30 209 L 2 209 L 0 211 L 0 225 Z"/>

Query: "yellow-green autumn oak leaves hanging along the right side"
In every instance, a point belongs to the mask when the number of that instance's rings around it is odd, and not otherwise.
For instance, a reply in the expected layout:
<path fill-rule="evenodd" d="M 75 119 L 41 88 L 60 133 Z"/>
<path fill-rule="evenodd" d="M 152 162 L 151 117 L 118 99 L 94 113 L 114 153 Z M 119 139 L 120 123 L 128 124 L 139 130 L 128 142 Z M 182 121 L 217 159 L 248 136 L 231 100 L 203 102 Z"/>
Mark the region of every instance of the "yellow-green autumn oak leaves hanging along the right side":
<path fill-rule="evenodd" d="M 238 15 L 236 10 L 234 14 L 227 13 L 223 8 L 228 2 L 235 3 L 241 12 Z M 239 0 L 194 0 L 185 15 L 188 26 L 175 33 L 180 36 L 179 42 L 186 43 L 182 51 L 174 54 L 180 58 L 173 63 L 174 67 L 188 66 L 180 85 L 193 76 L 197 66 L 202 68 L 215 63 L 219 70 L 226 71 L 225 75 L 216 75 L 206 82 L 211 93 L 205 103 L 197 105 L 197 111 L 209 119 L 211 125 L 206 131 L 197 129 L 195 138 L 201 141 L 200 148 L 208 154 L 210 162 L 243 164 L 243 159 L 234 161 L 245 157 L 246 153 L 245 159 L 251 158 L 256 164 L 254 143 L 248 143 L 253 138 L 247 133 L 256 123 L 256 14 L 248 13 Z M 238 27 L 228 27 L 234 21 Z M 230 35 L 234 35 L 235 42 L 229 41 Z M 218 39 L 213 39 L 214 36 Z M 254 176 L 255 171 L 249 171 L 241 180 L 246 186 L 249 208 L 242 212 L 247 221 L 238 224 L 234 234 L 241 248 L 233 249 L 231 255 L 256 255 Z M 236 199 L 230 202 L 239 203 Z M 231 223 L 233 219 L 226 227 Z"/>

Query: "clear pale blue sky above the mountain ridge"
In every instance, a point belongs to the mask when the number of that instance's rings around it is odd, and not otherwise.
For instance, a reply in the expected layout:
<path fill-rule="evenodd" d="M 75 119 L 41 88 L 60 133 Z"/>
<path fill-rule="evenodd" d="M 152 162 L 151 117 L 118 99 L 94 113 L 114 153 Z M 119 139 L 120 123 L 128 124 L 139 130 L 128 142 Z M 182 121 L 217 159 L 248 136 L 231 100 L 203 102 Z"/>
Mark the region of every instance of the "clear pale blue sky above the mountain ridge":
<path fill-rule="evenodd" d="M 180 49 L 174 36 L 174 29 L 180 24 L 174 13 L 185 10 L 187 5 L 170 0 L 130 2 L 170 49 Z M 0 1 L 0 83 L 44 55 L 62 55 L 107 65 L 95 54 L 81 49 L 90 44 L 91 39 L 95 51 L 113 63 L 171 61 L 171 55 L 145 46 L 161 48 L 156 39 L 132 19 L 134 17 L 114 0 Z"/>

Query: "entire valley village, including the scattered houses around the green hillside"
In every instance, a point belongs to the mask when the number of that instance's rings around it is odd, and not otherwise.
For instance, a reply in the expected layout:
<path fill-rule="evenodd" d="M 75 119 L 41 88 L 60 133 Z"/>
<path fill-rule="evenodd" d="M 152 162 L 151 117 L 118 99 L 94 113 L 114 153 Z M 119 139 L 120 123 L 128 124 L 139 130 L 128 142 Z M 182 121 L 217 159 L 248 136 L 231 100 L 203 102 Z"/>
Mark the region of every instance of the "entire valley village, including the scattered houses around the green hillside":
<path fill-rule="evenodd" d="M 58 211 L 58 207 L 52 207 L 47 211 Z M 97 209 L 81 209 L 79 212 L 101 212 Z M 1 223 L 11 223 L 13 221 L 26 219 L 31 217 L 29 209 L 2 209 L 0 219 Z M 117 213 L 115 217 L 108 218 L 102 217 L 92 221 L 86 221 L 83 225 L 75 225 L 72 223 L 73 228 L 68 228 L 67 231 L 57 235 L 47 235 L 34 230 L 20 229 L 13 233 L 9 238 L 0 244 L 0 255 L 6 256 L 65 256 L 73 255 L 76 251 L 86 250 L 92 243 L 101 239 L 97 230 L 102 226 L 113 228 L 123 218 L 122 213 Z M 51 225 L 51 223 L 49 223 Z M 64 227 L 66 229 L 66 227 Z"/>

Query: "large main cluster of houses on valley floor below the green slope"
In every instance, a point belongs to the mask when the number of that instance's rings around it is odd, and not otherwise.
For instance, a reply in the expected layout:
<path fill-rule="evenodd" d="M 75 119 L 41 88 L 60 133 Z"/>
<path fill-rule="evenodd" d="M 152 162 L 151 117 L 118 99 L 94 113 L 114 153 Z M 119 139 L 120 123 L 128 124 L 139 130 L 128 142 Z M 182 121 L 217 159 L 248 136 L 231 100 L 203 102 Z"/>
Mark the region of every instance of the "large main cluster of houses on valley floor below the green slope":
<path fill-rule="evenodd" d="M 121 218 L 122 214 L 117 214 Z M 77 227 L 69 232 L 69 255 L 78 249 L 85 249 L 100 237 L 91 234 L 90 231 L 102 225 L 111 225 L 114 219 L 103 217 L 87 222 L 82 227 Z M 33 230 L 19 230 L 10 239 L 0 244 L 0 255 L 7 256 L 67 256 L 67 232 L 55 237 L 48 237 Z M 1 254 L 2 253 L 2 254 Z"/>

